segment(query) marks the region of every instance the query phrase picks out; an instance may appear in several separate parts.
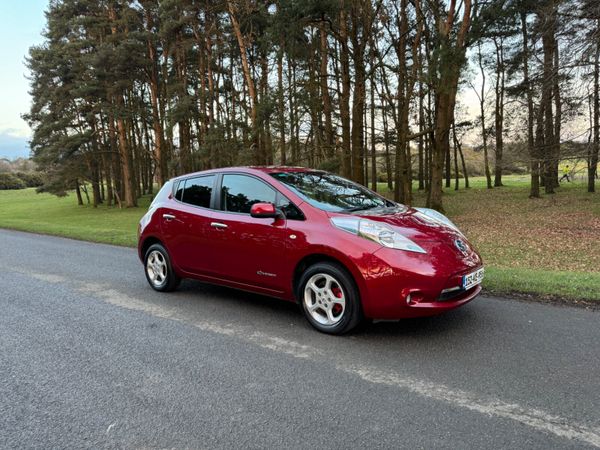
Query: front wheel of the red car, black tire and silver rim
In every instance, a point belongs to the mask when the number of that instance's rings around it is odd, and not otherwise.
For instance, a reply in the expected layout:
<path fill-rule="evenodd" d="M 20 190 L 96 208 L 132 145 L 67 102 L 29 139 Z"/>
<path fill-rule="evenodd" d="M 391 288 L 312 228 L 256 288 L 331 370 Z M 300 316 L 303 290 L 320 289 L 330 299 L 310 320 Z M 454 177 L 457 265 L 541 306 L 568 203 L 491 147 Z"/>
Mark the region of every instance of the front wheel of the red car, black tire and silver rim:
<path fill-rule="evenodd" d="M 356 284 L 337 264 L 323 262 L 306 269 L 297 297 L 308 322 L 323 333 L 348 333 L 363 319 Z"/>

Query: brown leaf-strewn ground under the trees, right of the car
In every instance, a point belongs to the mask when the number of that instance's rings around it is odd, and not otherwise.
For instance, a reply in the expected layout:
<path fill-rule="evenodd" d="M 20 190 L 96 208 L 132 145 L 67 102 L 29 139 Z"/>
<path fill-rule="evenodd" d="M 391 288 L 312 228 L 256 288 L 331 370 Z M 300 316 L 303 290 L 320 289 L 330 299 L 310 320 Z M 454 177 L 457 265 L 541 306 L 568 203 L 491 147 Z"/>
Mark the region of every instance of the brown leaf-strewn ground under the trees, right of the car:
<path fill-rule="evenodd" d="M 600 272 L 598 194 L 583 187 L 540 199 L 528 193 L 526 187 L 478 189 L 444 201 L 488 264 Z"/>

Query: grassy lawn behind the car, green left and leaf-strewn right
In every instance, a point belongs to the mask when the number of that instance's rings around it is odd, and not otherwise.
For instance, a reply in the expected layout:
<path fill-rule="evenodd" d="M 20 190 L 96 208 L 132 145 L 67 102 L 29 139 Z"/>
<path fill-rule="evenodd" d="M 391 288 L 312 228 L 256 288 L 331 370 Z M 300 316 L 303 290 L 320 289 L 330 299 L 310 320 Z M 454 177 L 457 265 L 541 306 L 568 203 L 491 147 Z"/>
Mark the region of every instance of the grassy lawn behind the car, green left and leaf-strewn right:
<path fill-rule="evenodd" d="M 483 257 L 485 289 L 600 302 L 600 185 L 597 194 L 579 182 L 561 186 L 553 196 L 529 199 L 527 176 L 506 176 L 505 184 L 488 190 L 477 177 L 471 189 L 447 189 L 444 195 L 447 215 Z M 391 195 L 385 184 L 378 189 Z M 135 246 L 149 202 L 144 197 L 138 208 L 92 208 L 77 206 L 73 195 L 0 191 L 0 227 Z M 425 204 L 416 186 L 414 204 Z"/>

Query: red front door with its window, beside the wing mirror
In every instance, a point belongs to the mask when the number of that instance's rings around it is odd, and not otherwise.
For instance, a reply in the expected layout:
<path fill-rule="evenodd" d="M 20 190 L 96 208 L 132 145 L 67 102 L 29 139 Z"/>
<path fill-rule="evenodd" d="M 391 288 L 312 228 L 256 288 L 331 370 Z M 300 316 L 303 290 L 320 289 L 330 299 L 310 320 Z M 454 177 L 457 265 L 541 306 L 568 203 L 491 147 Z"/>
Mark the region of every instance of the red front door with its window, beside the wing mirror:
<path fill-rule="evenodd" d="M 254 203 L 277 203 L 278 192 L 246 174 L 221 177 L 219 204 L 211 220 L 215 269 L 224 279 L 283 292 L 286 270 L 286 219 L 250 216 Z"/>

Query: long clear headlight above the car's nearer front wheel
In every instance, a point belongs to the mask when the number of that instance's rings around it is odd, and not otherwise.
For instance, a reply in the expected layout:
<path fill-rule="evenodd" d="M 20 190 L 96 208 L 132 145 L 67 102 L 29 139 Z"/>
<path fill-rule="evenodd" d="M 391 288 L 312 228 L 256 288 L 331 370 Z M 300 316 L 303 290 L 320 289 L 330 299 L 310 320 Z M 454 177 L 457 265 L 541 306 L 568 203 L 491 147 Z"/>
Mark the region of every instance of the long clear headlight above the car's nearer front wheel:
<path fill-rule="evenodd" d="M 377 242 L 384 247 L 407 252 L 427 253 L 407 237 L 395 232 L 389 226 L 373 220 L 359 219 L 358 217 L 333 217 L 331 223 L 341 230 Z"/>

